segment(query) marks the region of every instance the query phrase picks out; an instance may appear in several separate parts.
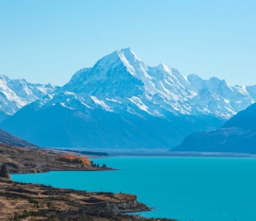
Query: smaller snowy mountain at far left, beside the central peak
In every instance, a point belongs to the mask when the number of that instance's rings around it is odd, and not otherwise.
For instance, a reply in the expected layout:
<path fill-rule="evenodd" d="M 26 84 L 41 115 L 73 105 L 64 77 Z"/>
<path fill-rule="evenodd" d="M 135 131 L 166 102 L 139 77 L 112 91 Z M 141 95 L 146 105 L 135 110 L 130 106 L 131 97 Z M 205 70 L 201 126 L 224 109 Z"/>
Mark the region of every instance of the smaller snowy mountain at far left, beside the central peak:
<path fill-rule="evenodd" d="M 32 84 L 24 79 L 13 80 L 0 75 L 0 111 L 12 115 L 23 106 L 52 93 L 55 88 L 50 84 Z"/>

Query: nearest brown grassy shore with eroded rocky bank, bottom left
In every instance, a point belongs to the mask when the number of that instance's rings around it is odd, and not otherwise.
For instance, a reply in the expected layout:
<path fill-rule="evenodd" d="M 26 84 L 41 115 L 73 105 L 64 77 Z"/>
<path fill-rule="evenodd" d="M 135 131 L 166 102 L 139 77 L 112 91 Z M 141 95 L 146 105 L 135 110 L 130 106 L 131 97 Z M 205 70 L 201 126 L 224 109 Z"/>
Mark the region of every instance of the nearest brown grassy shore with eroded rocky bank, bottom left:
<path fill-rule="evenodd" d="M 0 178 L 0 220 L 143 220 L 123 213 L 147 210 L 150 208 L 131 194 L 53 188 Z"/>

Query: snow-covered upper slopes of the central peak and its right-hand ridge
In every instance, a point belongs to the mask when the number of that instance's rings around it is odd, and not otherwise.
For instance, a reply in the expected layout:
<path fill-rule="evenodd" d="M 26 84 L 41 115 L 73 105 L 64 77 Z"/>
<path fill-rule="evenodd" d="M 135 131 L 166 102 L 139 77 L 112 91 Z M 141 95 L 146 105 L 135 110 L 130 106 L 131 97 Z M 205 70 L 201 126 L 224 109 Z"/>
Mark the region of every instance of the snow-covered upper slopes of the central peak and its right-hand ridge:
<path fill-rule="evenodd" d="M 143 110 L 160 117 L 166 111 L 213 114 L 226 120 L 254 103 L 256 97 L 256 87 L 248 90 L 245 86 L 232 87 L 217 77 L 209 80 L 197 75 L 184 77 L 164 64 L 148 66 L 130 48 L 106 55 L 92 68 L 81 69 L 61 91 L 59 102 L 70 108 L 73 108 L 72 92 L 74 99 L 90 108 L 98 106 L 114 112 L 127 108 L 136 114 Z M 65 99 L 65 94 L 69 98 Z"/>

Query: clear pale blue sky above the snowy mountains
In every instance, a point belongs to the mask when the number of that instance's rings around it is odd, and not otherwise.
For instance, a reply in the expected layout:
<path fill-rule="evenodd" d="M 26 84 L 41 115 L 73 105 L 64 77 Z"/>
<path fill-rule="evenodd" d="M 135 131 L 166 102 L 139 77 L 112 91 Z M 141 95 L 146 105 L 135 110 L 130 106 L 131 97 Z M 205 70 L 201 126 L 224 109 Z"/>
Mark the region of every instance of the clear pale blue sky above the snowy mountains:
<path fill-rule="evenodd" d="M 256 1 L 0 1 L 0 73 L 63 85 L 125 47 L 150 66 L 256 84 Z"/>

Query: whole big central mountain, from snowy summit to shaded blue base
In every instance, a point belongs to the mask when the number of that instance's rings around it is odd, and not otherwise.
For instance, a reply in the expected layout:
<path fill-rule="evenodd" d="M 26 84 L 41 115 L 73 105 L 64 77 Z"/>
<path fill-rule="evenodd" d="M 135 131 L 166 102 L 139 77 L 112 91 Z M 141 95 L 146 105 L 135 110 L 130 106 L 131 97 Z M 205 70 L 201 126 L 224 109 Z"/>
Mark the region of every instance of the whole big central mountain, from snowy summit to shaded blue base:
<path fill-rule="evenodd" d="M 170 148 L 190 133 L 221 127 L 256 100 L 256 86 L 184 77 L 164 64 L 146 65 L 130 48 L 81 69 L 61 88 L 37 87 L 48 91 L 30 89 L 36 96 L 26 102 L 35 101 L 16 105 L 13 112 L 21 109 L 0 127 L 51 147 Z"/>

